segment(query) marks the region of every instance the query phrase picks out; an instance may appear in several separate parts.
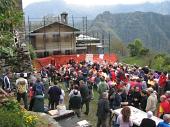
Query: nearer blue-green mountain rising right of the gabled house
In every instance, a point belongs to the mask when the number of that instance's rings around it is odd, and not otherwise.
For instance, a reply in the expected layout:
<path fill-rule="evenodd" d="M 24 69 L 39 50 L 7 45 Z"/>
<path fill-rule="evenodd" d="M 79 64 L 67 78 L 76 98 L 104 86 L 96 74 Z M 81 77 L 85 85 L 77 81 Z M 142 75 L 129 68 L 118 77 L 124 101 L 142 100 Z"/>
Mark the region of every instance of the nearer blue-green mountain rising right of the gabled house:
<path fill-rule="evenodd" d="M 153 12 L 112 14 L 108 11 L 97 15 L 88 31 L 108 33 L 125 44 L 141 39 L 145 47 L 170 52 L 170 15 Z"/>

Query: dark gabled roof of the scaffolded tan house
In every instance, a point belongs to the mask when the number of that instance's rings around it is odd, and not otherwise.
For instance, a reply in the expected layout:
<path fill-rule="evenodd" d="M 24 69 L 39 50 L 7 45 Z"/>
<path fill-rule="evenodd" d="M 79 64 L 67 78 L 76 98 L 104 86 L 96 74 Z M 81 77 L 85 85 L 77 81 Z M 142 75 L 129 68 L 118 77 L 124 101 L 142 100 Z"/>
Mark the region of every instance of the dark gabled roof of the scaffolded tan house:
<path fill-rule="evenodd" d="M 79 29 L 74 28 L 74 27 L 72 27 L 72 26 L 70 26 L 70 25 L 68 25 L 68 24 L 64 24 L 64 23 L 61 23 L 61 22 L 57 22 L 57 21 L 56 21 L 56 22 L 47 24 L 47 25 L 45 25 L 45 26 L 41 26 L 41 27 L 39 27 L 39 28 L 31 31 L 30 33 L 37 33 L 39 30 L 44 29 L 44 27 L 49 27 L 49 26 L 58 25 L 58 24 L 59 24 L 59 25 L 64 25 L 64 26 L 66 26 L 66 27 L 69 27 L 69 28 L 73 29 L 73 31 L 80 31 Z"/>

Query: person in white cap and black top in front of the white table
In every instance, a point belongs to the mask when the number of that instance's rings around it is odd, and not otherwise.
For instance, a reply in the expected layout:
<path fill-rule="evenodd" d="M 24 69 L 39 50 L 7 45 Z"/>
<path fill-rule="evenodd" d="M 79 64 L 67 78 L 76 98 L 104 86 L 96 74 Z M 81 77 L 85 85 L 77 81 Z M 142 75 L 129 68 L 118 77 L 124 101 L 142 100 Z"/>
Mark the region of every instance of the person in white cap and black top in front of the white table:
<path fill-rule="evenodd" d="M 147 112 L 147 118 L 144 118 L 140 124 L 140 127 L 156 127 L 156 123 L 152 120 L 153 113 L 151 111 Z"/>

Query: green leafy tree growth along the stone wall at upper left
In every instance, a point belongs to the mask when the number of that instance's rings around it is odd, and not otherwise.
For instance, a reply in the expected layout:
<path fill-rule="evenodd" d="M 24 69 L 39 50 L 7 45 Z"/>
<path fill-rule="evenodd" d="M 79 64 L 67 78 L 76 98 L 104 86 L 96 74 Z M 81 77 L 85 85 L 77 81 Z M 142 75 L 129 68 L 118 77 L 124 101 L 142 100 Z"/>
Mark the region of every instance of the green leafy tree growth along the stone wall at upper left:
<path fill-rule="evenodd" d="M 10 61 L 16 55 L 14 30 L 23 22 L 16 0 L 0 0 L 0 57 Z M 8 64 L 12 64 L 8 62 Z"/>

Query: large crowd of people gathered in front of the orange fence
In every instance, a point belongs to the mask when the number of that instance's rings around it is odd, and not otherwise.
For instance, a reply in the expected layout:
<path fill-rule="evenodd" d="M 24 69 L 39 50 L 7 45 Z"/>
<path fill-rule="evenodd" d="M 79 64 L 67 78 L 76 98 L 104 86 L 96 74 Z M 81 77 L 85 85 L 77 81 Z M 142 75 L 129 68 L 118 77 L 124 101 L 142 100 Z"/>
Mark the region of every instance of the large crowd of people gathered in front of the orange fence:
<path fill-rule="evenodd" d="M 7 72 L 3 78 L 3 89 L 7 92 L 12 88 L 11 74 Z M 129 105 L 147 112 L 147 119 L 152 115 L 164 119 L 164 123 L 159 123 L 157 127 L 170 126 L 170 74 L 151 70 L 147 66 L 107 61 L 76 63 L 71 60 L 65 65 L 42 67 L 39 73 L 34 72 L 27 79 L 20 73 L 14 86 L 17 100 L 20 102 L 22 98 L 28 110 L 32 110 L 36 95 L 47 97 L 51 110 L 63 104 L 65 92 L 69 92 L 68 107 L 81 117 L 83 105 L 86 106 L 84 114 L 89 114 L 90 102 L 94 99 L 94 91 L 97 91 L 97 127 L 107 127 L 109 112 L 121 107 L 124 108 L 115 126 L 133 126 Z M 141 127 L 145 126 L 147 119 L 142 121 Z"/>

